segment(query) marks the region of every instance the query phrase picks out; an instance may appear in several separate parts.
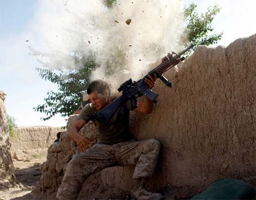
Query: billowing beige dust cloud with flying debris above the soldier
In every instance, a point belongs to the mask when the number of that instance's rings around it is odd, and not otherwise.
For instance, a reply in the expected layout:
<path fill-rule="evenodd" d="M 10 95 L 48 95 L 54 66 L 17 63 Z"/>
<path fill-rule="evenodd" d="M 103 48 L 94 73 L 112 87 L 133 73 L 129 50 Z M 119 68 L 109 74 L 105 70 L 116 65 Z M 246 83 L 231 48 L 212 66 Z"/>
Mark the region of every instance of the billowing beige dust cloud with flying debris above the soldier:
<path fill-rule="evenodd" d="M 91 80 L 104 79 L 115 90 L 184 47 L 178 43 L 183 8 L 181 0 L 120 0 L 110 8 L 99 0 L 41 1 L 37 21 L 51 52 L 42 64 L 76 68 L 93 55 L 100 67 Z"/>

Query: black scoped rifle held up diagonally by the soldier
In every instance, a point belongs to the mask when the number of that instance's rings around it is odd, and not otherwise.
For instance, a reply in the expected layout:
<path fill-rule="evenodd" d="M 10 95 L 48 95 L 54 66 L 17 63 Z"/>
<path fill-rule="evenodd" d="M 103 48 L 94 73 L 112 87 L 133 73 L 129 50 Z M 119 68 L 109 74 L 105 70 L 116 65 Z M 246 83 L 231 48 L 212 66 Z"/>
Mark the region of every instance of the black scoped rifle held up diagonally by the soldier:
<path fill-rule="evenodd" d="M 102 110 L 93 113 L 93 118 L 102 122 L 103 124 L 109 124 L 111 117 L 117 111 L 117 109 L 124 105 L 128 100 L 131 100 L 131 110 L 136 109 L 137 106 L 137 98 L 144 95 L 147 98 L 151 99 L 154 103 L 156 103 L 156 97 L 158 94 L 148 88 L 148 85 L 145 83 L 145 79 L 148 78 L 148 75 L 154 77 L 156 73 L 157 78 L 165 83 L 167 87 L 172 87 L 172 83 L 169 82 L 164 76 L 163 73 L 170 68 L 174 67 L 185 58 L 181 57 L 184 53 L 186 53 L 190 48 L 194 45 L 190 45 L 180 54 L 176 54 L 172 52 L 172 54 L 168 53 L 167 56 L 162 58 L 162 63 L 155 67 L 153 70 L 148 72 L 142 79 L 139 81 L 132 81 L 129 79 L 125 81 L 121 86 L 118 88 L 118 91 L 122 91 L 122 95 L 115 99 L 114 102 L 109 104 L 108 106 L 104 107 Z"/>

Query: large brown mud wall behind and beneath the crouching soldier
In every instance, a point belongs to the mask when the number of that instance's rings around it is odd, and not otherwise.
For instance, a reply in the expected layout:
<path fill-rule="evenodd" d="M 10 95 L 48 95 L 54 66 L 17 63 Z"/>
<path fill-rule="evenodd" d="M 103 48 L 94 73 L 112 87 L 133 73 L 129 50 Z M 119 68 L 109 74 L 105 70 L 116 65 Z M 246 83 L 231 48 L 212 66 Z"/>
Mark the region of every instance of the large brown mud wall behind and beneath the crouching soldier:
<path fill-rule="evenodd" d="M 131 113 L 134 137 L 156 138 L 162 144 L 148 187 L 199 188 L 221 178 L 255 176 L 255 66 L 256 35 L 252 35 L 227 47 L 198 46 L 188 60 L 165 73 L 173 88 L 157 81 L 154 91 L 159 97 L 153 113 Z M 90 134 L 95 132 L 92 124 L 85 129 Z M 74 153 L 74 143 L 66 132 L 58 144 L 50 146 L 36 190 L 56 192 Z M 88 196 L 88 191 L 105 185 L 131 191 L 133 170 L 111 167 L 93 174 L 83 183 L 79 196 L 100 198 Z"/>

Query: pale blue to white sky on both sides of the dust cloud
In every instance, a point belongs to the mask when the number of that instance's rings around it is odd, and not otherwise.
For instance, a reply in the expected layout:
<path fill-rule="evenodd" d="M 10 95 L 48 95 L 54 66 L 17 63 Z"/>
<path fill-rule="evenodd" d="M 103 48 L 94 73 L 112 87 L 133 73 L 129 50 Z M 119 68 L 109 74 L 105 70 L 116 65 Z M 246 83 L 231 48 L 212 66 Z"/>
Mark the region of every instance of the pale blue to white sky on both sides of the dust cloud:
<path fill-rule="evenodd" d="M 45 12 L 42 2 L 51 5 L 50 0 L 0 0 L 0 90 L 7 94 L 7 113 L 16 119 L 18 127 L 66 126 L 65 118 L 55 116 L 41 121 L 40 117 L 45 115 L 33 110 L 44 103 L 47 91 L 57 90 L 55 84 L 38 76 L 35 67 L 41 65 L 29 55 L 29 46 L 42 52 L 45 49 L 42 23 L 38 20 L 38 15 Z M 66 2 L 59 0 L 60 6 Z M 223 38 L 213 46 L 227 46 L 238 38 L 256 33 L 255 0 L 244 0 L 243 3 L 238 0 L 185 0 L 184 3 L 186 6 L 197 4 L 198 12 L 205 12 L 214 4 L 222 8 L 212 26 L 216 33 L 223 32 Z"/>

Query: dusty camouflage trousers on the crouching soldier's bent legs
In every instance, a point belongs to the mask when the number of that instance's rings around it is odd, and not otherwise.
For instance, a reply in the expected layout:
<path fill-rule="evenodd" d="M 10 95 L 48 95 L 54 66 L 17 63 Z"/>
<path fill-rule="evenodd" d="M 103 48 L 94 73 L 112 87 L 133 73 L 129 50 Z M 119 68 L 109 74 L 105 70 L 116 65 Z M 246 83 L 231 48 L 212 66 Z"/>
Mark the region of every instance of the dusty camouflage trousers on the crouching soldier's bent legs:
<path fill-rule="evenodd" d="M 86 153 L 77 153 L 68 163 L 58 199 L 76 199 L 90 174 L 111 166 L 136 165 L 133 179 L 151 178 L 155 171 L 160 142 L 156 139 L 127 141 L 113 145 L 95 144 Z"/>

